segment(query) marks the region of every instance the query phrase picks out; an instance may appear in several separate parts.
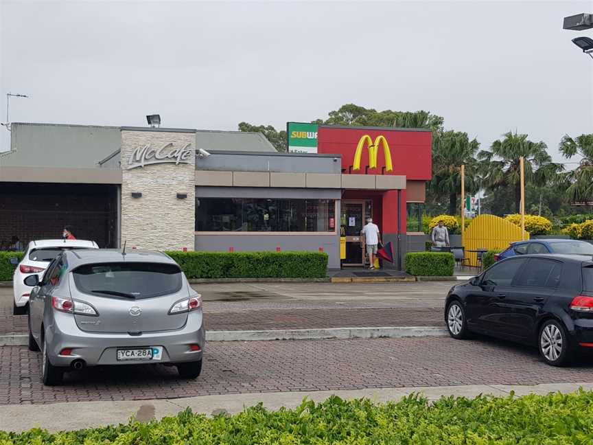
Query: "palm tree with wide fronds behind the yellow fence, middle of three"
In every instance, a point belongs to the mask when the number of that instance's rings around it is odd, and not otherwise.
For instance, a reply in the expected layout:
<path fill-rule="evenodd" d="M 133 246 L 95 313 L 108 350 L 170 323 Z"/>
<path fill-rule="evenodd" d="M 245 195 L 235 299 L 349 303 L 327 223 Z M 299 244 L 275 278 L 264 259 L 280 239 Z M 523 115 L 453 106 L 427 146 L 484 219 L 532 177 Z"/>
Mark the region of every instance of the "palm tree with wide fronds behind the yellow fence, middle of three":
<path fill-rule="evenodd" d="M 518 133 L 504 134 L 504 139 L 494 141 L 490 151 L 478 153 L 484 185 L 496 192 L 511 187 L 514 190 L 515 209 L 520 211 L 521 172 L 520 157 L 525 158 L 525 181 L 533 185 L 544 185 L 553 181 L 563 170 L 561 164 L 552 162 L 544 142 L 533 142 L 528 135 Z"/>

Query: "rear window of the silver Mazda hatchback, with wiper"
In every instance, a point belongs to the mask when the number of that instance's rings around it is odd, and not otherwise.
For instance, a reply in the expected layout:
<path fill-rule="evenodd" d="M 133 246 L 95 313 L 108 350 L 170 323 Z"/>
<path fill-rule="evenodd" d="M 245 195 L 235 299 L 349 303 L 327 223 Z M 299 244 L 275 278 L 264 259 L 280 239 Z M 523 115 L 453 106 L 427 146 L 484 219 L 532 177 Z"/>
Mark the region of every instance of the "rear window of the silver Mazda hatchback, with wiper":
<path fill-rule="evenodd" d="M 181 269 L 176 264 L 111 262 L 74 269 L 74 283 L 83 293 L 110 298 L 143 299 L 176 293 Z"/>

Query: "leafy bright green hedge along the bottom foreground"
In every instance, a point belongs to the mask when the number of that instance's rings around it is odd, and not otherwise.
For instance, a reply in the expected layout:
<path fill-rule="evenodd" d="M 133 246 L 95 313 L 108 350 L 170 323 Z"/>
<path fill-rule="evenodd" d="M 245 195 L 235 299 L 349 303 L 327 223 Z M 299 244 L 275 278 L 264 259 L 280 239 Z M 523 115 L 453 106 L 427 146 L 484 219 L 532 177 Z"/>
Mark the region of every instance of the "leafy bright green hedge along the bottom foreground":
<path fill-rule="evenodd" d="M 320 404 L 305 400 L 296 409 L 278 411 L 259 404 L 228 417 L 207 418 L 187 409 L 147 424 L 130 420 L 62 433 L 0 432 L 0 444 L 591 444 L 592 418 L 590 391 L 443 397 L 434 403 L 412 394 L 385 404 L 332 396 Z"/>

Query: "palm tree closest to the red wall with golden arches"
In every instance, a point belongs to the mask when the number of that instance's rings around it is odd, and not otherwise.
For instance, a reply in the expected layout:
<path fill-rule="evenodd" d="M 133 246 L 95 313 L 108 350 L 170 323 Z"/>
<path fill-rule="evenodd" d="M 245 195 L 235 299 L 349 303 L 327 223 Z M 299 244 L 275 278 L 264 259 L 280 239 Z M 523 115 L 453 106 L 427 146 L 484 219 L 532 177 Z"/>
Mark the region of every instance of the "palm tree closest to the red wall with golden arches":
<path fill-rule="evenodd" d="M 461 164 L 465 164 L 465 187 L 467 192 L 478 190 L 478 162 L 476 152 L 480 143 L 469 140 L 467 133 L 445 131 L 434 137 L 432 144 L 432 181 L 430 191 L 434 195 L 447 195 L 449 214 L 455 215 L 457 195 L 461 192 Z"/>

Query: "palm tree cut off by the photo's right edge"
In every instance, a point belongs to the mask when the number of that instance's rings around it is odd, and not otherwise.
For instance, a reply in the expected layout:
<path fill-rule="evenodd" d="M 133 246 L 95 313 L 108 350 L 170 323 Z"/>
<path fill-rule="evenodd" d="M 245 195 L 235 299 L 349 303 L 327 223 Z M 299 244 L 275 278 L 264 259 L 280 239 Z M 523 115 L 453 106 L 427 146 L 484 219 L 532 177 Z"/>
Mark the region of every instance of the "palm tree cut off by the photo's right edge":
<path fill-rule="evenodd" d="M 581 157 L 579 166 L 566 174 L 570 183 L 566 192 L 573 201 L 593 201 L 593 134 L 576 139 L 564 135 L 559 148 L 566 159 Z"/>

